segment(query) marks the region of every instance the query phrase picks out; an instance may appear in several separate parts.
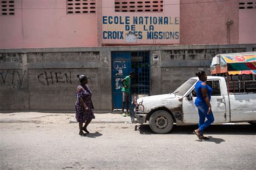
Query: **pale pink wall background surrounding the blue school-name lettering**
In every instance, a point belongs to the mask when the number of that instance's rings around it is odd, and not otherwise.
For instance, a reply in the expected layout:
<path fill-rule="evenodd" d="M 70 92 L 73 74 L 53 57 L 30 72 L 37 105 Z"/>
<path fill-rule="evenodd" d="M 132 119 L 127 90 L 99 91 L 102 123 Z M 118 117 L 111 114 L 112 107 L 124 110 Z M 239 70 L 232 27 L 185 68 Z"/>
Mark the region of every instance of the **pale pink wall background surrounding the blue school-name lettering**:
<path fill-rule="evenodd" d="M 133 2 L 138 2 L 133 1 Z M 179 0 L 165 0 L 164 1 L 164 12 L 115 12 L 114 11 L 114 0 L 103 0 L 102 1 L 102 16 L 122 16 L 123 18 L 125 16 L 129 16 L 132 18 L 133 16 L 137 17 L 178 17 L 179 18 Z M 130 23 L 129 25 L 132 25 Z M 152 24 L 153 25 L 153 24 Z M 129 31 L 125 31 L 124 29 L 125 25 L 107 25 L 105 28 L 103 26 L 103 31 L 112 31 L 113 29 L 116 29 L 118 31 L 124 31 L 124 39 L 104 39 L 102 38 L 102 44 L 114 44 L 114 45 L 142 45 L 142 44 L 179 44 L 179 39 L 155 39 L 155 40 L 147 40 L 147 39 L 137 39 L 136 42 L 127 42 L 125 39 L 125 33 L 128 33 Z M 136 25 L 136 31 L 143 31 L 141 25 Z M 154 25 L 155 26 L 155 25 Z M 118 28 L 117 28 L 118 27 Z M 138 27 L 140 27 L 138 29 Z M 178 31 L 179 31 L 179 25 Z M 165 25 L 161 27 L 160 29 L 165 31 L 171 31 L 168 28 L 165 28 Z M 154 30 L 157 31 L 157 30 Z M 145 33 L 145 32 L 144 32 Z M 146 33 L 145 33 L 146 34 Z M 144 34 L 143 37 L 146 37 Z"/>

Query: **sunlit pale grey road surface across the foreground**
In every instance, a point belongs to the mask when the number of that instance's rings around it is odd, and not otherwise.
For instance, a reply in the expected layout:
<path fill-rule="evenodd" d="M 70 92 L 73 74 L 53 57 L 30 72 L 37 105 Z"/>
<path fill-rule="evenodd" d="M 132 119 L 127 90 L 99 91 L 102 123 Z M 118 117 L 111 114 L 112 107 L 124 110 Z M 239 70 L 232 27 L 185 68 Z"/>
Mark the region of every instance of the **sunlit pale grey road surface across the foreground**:
<path fill-rule="evenodd" d="M 0 169 L 255 169 L 256 131 L 249 124 L 197 126 L 154 134 L 149 125 L 0 123 Z"/>

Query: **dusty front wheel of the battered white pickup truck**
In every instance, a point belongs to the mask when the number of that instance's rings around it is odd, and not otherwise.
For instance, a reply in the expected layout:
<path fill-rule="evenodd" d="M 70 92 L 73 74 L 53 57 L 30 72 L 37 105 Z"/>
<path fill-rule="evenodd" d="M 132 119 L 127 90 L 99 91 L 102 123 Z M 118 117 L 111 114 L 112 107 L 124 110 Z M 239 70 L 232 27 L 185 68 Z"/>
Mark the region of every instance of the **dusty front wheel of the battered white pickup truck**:
<path fill-rule="evenodd" d="M 173 118 L 169 112 L 158 110 L 149 119 L 150 129 L 158 134 L 169 133 L 172 130 Z"/>

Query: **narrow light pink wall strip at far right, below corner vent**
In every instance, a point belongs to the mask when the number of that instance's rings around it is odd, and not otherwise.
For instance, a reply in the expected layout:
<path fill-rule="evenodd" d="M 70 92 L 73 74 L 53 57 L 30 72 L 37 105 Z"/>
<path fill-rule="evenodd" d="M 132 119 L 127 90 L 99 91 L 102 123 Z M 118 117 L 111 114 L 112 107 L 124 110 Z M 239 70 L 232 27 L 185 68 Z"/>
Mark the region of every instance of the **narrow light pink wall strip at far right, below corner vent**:
<path fill-rule="evenodd" d="M 239 10 L 239 44 L 256 43 L 256 9 Z"/>

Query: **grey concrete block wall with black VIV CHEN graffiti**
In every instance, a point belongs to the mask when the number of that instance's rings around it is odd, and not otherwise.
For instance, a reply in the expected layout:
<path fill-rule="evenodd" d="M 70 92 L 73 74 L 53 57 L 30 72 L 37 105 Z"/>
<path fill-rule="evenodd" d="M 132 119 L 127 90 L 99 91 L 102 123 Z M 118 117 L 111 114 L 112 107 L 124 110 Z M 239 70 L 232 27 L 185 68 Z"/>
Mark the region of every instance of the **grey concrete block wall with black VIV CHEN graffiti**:
<path fill-rule="evenodd" d="M 170 93 L 198 68 L 210 73 L 215 54 L 256 51 L 256 44 L 0 49 L 0 110 L 75 111 L 76 75 L 84 73 L 96 110 L 111 111 L 113 51 L 150 51 L 156 95 Z"/>

